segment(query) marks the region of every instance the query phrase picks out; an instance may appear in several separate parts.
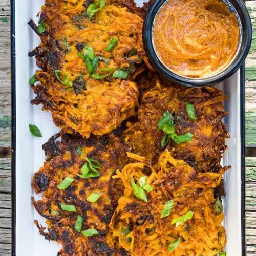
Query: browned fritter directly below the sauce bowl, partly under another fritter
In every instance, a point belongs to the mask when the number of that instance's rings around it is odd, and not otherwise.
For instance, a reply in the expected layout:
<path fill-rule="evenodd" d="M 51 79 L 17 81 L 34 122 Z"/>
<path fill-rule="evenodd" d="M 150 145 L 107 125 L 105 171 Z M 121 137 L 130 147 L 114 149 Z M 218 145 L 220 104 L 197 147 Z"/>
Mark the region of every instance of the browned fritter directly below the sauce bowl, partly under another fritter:
<path fill-rule="evenodd" d="M 129 127 L 123 133 L 127 143 L 136 154 L 146 157 L 154 165 L 163 151 L 161 140 L 164 133 L 158 130 L 158 121 L 168 110 L 173 116 L 177 134 L 193 134 L 189 142 L 179 145 L 169 142 L 169 147 L 176 148 L 174 157 L 183 159 L 198 172 L 218 172 L 226 148 L 225 138 L 229 137 L 221 121 L 227 114 L 223 112 L 222 103 L 226 96 L 216 88 L 181 87 L 164 80 L 160 82 L 156 75 L 150 79 L 155 81 L 155 86 L 148 85 L 149 88 L 142 93 L 138 121 L 128 123 Z M 186 102 L 195 106 L 194 121 L 187 116 Z"/>

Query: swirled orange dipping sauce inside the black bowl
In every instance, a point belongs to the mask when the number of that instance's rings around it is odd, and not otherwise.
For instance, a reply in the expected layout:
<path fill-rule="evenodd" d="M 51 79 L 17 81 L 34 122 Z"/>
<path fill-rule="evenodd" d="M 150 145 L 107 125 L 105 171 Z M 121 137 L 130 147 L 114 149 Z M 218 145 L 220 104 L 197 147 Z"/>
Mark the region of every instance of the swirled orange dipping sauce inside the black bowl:
<path fill-rule="evenodd" d="M 236 55 L 240 26 L 221 0 L 170 0 L 159 10 L 153 28 L 157 55 L 185 77 L 209 77 Z"/>

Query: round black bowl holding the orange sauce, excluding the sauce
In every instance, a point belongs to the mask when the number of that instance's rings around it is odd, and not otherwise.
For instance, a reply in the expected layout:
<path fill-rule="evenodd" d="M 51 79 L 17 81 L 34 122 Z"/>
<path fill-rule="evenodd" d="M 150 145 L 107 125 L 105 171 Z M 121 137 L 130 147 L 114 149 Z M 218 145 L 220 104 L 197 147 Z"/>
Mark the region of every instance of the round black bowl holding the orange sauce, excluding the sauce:
<path fill-rule="evenodd" d="M 163 65 L 162 61 L 158 57 L 153 44 L 153 26 L 156 15 L 159 9 L 168 0 L 155 0 L 147 12 L 144 25 L 143 25 L 143 44 L 146 52 L 146 56 L 150 64 L 164 77 L 170 81 L 182 84 L 188 87 L 206 87 L 213 86 L 214 84 L 230 77 L 234 74 L 244 63 L 245 58 L 249 52 L 251 39 L 252 39 L 252 28 L 249 13 L 241 0 L 224 0 L 225 3 L 230 3 L 239 16 L 241 22 L 241 43 L 238 48 L 238 52 L 229 65 L 221 72 L 214 74 L 210 77 L 203 78 L 190 78 L 178 75 L 172 70 L 168 69 Z M 172 0 L 169 0 L 172 1 Z"/>

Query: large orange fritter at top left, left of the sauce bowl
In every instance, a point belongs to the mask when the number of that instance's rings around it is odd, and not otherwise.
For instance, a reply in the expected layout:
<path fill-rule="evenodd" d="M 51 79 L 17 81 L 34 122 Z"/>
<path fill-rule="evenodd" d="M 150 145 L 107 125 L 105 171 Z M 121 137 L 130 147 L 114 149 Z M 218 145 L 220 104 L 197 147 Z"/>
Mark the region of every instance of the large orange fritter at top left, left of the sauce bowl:
<path fill-rule="evenodd" d="M 130 78 L 140 72 L 144 57 L 143 21 L 115 5 L 106 5 L 89 19 L 84 1 L 73 2 L 47 0 L 42 7 L 40 23 L 44 22 L 46 29 L 40 35 L 41 44 L 29 53 L 36 56 L 42 69 L 35 76 L 40 84 L 32 86 L 37 94 L 32 104 L 41 103 L 43 110 L 50 110 L 57 126 L 88 138 L 91 133 L 109 133 L 135 115 L 138 90 Z M 30 25 L 38 33 L 32 21 Z M 113 37 L 118 38 L 117 44 L 112 51 L 105 51 Z M 112 69 L 112 73 L 122 70 L 129 72 L 129 80 L 121 81 L 112 74 L 93 78 L 81 58 L 85 46 L 92 47 L 97 56 L 94 74 L 102 68 Z M 57 79 L 56 70 L 62 72 L 58 74 L 66 84 Z M 103 70 L 100 75 L 106 73 Z"/>

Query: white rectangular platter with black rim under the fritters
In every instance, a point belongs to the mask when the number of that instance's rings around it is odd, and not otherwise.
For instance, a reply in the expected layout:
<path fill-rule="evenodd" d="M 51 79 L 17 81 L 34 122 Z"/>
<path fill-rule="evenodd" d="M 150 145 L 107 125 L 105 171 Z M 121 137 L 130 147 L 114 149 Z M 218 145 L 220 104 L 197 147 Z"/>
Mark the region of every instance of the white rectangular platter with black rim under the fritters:
<path fill-rule="evenodd" d="M 137 1 L 138 2 L 138 1 Z M 40 217 L 31 205 L 31 196 L 35 196 L 31 187 L 31 179 L 34 172 L 44 163 L 45 155 L 41 149 L 53 134 L 59 129 L 54 126 L 51 114 L 42 112 L 41 106 L 32 106 L 30 100 L 35 97 L 28 81 L 37 69 L 35 59 L 28 57 L 28 52 L 39 43 L 39 37 L 29 28 L 28 22 L 40 11 L 44 0 L 13 0 L 13 58 L 16 65 L 13 72 L 13 113 L 16 113 L 16 121 L 13 117 L 13 157 L 15 166 L 15 186 L 13 186 L 14 215 L 13 217 L 13 254 L 17 256 L 52 256 L 57 255 L 61 248 L 55 242 L 45 240 L 39 236 L 38 229 L 34 225 L 37 219 L 42 225 L 45 220 Z M 15 56 L 14 56 L 15 55 Z M 14 64 L 14 60 L 13 60 Z M 243 108 L 243 93 L 241 92 L 240 71 L 229 79 L 218 84 L 229 101 L 225 102 L 225 110 L 229 112 L 224 123 L 228 127 L 230 138 L 226 141 L 228 150 L 223 156 L 223 165 L 231 165 L 232 168 L 224 175 L 226 197 L 224 204 L 224 227 L 226 229 L 227 244 L 225 251 L 227 256 L 245 255 L 244 250 L 244 180 L 241 180 L 241 161 L 243 163 L 243 139 L 241 145 L 241 108 Z M 243 81 L 242 81 L 243 83 Z M 243 91 L 243 90 L 242 90 Z M 242 107 L 241 107 L 242 106 Z M 33 137 L 29 131 L 29 124 L 37 125 L 43 137 Z M 243 127 L 243 123 L 242 123 Z M 16 137 L 16 138 L 15 138 Z M 15 143 L 16 142 L 16 143 Z M 241 188 L 242 187 L 242 188 Z M 15 196 L 16 194 L 16 196 Z M 242 205 L 242 207 L 241 207 Z M 242 210 L 241 210 L 242 209 Z"/>

